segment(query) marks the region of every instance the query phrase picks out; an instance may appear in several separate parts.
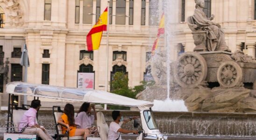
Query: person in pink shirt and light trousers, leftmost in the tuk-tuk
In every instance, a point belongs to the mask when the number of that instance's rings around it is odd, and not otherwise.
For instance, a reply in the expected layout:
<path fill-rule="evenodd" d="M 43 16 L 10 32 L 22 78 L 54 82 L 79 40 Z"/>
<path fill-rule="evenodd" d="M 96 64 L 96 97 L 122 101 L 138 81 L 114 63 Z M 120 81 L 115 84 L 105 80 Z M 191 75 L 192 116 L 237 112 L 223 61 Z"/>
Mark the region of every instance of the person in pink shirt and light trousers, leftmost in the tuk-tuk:
<path fill-rule="evenodd" d="M 37 124 L 36 113 L 41 106 L 40 100 L 33 100 L 31 107 L 24 113 L 19 124 L 19 131 L 27 134 L 37 134 L 43 140 L 53 140 L 47 130 Z"/>

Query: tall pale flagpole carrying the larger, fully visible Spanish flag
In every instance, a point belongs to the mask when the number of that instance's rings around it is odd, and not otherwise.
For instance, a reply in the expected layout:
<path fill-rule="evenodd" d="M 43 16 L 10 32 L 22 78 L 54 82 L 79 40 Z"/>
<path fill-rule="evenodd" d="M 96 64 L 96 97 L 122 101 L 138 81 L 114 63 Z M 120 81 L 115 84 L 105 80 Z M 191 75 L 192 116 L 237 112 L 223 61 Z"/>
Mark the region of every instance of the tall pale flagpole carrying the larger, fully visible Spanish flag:
<path fill-rule="evenodd" d="M 108 41 L 109 41 L 109 2 L 110 0 L 107 0 L 107 55 L 106 55 L 106 83 L 105 83 L 105 91 L 107 91 L 107 77 L 108 77 Z M 107 104 L 104 104 L 104 110 L 107 110 Z"/>

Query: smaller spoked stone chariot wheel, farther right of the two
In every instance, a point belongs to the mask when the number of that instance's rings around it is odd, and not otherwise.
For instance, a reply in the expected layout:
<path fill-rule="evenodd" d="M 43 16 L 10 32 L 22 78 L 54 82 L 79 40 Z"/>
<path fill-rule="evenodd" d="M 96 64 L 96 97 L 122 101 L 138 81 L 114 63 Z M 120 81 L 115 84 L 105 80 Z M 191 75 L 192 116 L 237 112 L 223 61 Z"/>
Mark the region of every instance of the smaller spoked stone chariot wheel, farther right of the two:
<path fill-rule="evenodd" d="M 242 69 L 235 62 L 224 62 L 217 70 L 217 80 L 222 87 L 235 87 L 242 82 Z"/>

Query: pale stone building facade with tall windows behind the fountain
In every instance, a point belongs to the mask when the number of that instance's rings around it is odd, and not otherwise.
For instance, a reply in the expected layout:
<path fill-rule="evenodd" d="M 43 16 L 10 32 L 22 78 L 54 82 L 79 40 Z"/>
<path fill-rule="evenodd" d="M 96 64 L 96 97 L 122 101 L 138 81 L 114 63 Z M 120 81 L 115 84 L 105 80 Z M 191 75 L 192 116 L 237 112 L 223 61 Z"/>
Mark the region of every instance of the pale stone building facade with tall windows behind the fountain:
<path fill-rule="evenodd" d="M 111 0 L 110 14 L 121 16 L 111 16 L 109 48 L 104 33 L 100 49 L 87 52 L 86 35 L 99 17 L 95 14 L 107 7 L 107 0 L 0 0 L 0 48 L 9 68 L 5 80 L 0 76 L 1 92 L 7 82 L 22 80 L 19 56 L 25 43 L 29 83 L 77 87 L 78 72 L 93 72 L 94 89 L 104 90 L 108 49 L 108 81 L 114 72 L 124 71 L 129 86 L 140 84 L 161 15 L 152 11 L 160 7 L 160 1 Z M 232 52 L 240 49 L 256 57 L 256 0 L 205 1 L 206 14 L 215 15 Z M 167 13 L 175 15 L 177 29 L 175 40 L 170 42 L 173 60 L 195 47 L 185 21 L 194 9 L 194 0 L 178 0 L 176 12 Z M 0 94 L 1 105 L 6 105 L 7 96 Z"/>

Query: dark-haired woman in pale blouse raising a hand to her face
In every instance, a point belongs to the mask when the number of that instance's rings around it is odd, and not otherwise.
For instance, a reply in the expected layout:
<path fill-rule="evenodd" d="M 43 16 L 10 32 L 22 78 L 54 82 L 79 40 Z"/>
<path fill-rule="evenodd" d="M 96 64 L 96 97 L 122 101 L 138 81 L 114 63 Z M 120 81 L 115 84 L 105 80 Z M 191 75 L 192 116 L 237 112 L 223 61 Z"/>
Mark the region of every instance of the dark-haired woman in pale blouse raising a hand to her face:
<path fill-rule="evenodd" d="M 91 110 L 93 109 L 93 114 L 91 115 Z M 84 103 L 79 111 L 78 116 L 76 117 L 76 125 L 78 128 L 91 128 L 93 121 L 97 120 L 97 112 L 95 111 L 95 105 L 90 105 L 90 103 Z"/>

